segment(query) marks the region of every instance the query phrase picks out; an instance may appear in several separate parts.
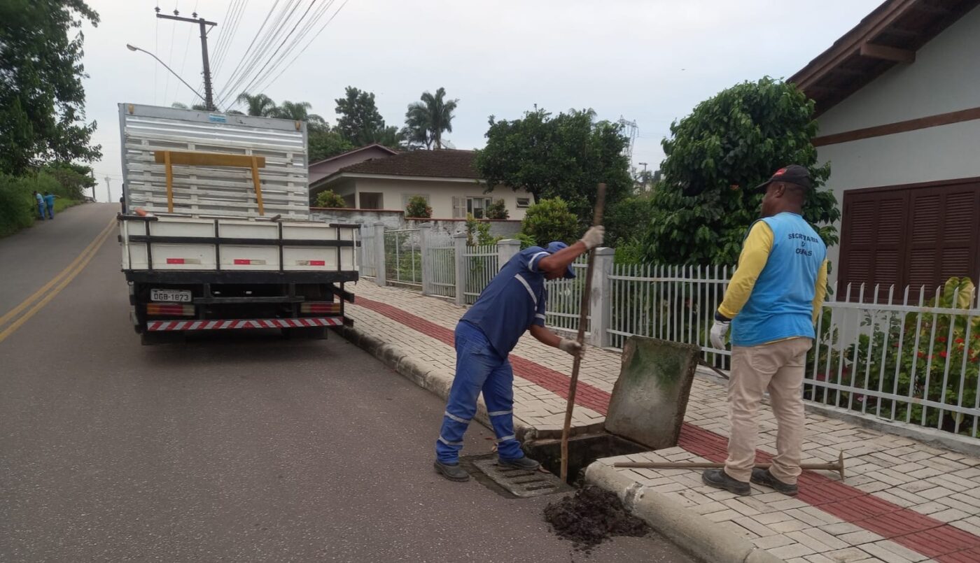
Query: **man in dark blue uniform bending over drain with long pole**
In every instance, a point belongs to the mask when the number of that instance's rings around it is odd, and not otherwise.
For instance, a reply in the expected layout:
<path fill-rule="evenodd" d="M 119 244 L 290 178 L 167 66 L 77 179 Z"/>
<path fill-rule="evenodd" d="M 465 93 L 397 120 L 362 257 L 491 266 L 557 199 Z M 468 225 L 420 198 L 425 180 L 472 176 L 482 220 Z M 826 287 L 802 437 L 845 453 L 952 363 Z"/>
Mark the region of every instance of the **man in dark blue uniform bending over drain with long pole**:
<path fill-rule="evenodd" d="M 456 326 L 456 377 L 435 443 L 435 470 L 446 479 L 469 479 L 460 466 L 460 449 L 476 414 L 480 392 L 497 436 L 499 463 L 529 471 L 541 466 L 524 455 L 515 437 L 514 370 L 508 354 L 525 331 L 548 346 L 572 355 L 581 352 L 577 341 L 545 328 L 545 280 L 575 277 L 571 262 L 601 245 L 604 234 L 602 226 L 594 226 L 570 247 L 553 242 L 544 249 L 521 251 L 504 264 L 460 319 Z"/>

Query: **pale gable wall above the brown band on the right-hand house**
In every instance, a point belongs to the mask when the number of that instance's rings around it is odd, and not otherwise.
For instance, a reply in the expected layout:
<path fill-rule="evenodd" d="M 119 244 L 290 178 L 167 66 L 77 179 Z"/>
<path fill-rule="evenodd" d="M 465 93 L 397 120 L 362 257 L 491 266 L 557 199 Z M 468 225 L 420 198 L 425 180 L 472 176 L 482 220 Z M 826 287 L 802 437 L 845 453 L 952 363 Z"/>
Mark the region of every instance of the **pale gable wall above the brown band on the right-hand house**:
<path fill-rule="evenodd" d="M 820 116 L 820 135 L 980 106 L 980 8 Z"/>

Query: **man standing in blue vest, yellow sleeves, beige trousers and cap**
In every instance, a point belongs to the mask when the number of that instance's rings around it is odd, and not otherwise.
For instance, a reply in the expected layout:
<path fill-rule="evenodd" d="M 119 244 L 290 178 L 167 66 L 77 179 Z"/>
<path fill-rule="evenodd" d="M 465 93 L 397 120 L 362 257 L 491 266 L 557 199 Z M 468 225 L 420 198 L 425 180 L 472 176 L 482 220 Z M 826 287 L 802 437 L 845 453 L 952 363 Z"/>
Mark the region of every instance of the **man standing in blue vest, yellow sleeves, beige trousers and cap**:
<path fill-rule="evenodd" d="M 827 247 L 801 215 L 807 168 L 780 168 L 765 189 L 761 218 L 745 239 L 738 269 L 714 313 L 711 344 L 724 349 L 731 324 L 731 425 L 724 469 L 702 475 L 711 487 L 746 495 L 749 482 L 796 494 L 803 450 L 803 379 L 813 323 L 827 285 Z M 759 405 L 768 390 L 779 430 L 769 469 L 754 468 Z"/>

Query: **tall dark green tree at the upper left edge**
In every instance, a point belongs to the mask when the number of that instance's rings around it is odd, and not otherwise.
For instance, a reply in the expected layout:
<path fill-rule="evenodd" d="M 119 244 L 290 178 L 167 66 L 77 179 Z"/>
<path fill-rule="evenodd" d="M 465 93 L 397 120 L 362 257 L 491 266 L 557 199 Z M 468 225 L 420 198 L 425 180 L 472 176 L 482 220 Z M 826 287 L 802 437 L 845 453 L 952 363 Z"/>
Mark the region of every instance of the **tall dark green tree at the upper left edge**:
<path fill-rule="evenodd" d="M 83 0 L 0 2 L 0 170 L 101 158 L 83 121 L 83 20 L 99 23 Z"/>

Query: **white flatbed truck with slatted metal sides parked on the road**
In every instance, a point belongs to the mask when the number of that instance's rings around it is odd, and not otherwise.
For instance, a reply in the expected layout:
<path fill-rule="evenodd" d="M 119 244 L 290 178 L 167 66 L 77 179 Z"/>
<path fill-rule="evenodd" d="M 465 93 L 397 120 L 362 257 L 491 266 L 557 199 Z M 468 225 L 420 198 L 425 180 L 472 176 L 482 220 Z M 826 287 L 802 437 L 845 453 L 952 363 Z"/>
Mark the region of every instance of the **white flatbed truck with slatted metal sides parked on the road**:
<path fill-rule="evenodd" d="M 359 226 L 311 220 L 306 122 L 119 112 L 119 241 L 142 344 L 215 330 L 326 338 L 350 323 Z"/>

